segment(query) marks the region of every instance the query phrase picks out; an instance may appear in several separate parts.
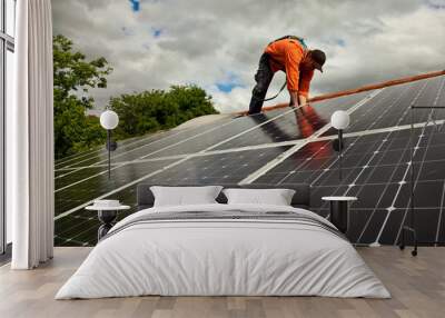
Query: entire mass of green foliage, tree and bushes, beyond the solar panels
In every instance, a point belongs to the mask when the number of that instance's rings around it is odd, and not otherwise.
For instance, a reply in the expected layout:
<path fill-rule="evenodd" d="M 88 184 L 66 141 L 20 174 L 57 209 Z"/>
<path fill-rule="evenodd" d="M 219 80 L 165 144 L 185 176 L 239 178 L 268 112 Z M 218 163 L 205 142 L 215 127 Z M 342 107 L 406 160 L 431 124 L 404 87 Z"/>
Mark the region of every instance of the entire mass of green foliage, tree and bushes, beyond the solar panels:
<path fill-rule="evenodd" d="M 112 71 L 105 58 L 87 60 L 63 36 L 53 38 L 55 150 L 56 158 L 105 145 L 107 132 L 99 118 L 87 116 L 95 101 L 92 88 L 107 88 Z M 196 86 L 174 86 L 169 91 L 150 90 L 110 99 L 119 115 L 116 139 L 176 127 L 197 116 L 217 113 L 211 97 Z"/>

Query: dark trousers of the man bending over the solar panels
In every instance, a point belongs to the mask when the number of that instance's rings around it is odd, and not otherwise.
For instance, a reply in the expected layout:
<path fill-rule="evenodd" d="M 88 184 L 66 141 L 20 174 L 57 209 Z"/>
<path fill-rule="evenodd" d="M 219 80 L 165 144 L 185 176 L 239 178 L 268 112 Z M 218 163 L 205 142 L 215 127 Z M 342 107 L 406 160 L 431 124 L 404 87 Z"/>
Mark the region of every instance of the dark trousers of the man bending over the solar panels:
<path fill-rule="evenodd" d="M 269 56 L 263 53 L 259 59 L 258 71 L 255 74 L 255 81 L 257 85 L 251 91 L 251 99 L 249 105 L 249 115 L 258 113 L 261 111 L 264 99 L 266 98 L 267 89 L 269 88 L 270 81 L 274 77 L 274 72 L 270 69 Z"/>

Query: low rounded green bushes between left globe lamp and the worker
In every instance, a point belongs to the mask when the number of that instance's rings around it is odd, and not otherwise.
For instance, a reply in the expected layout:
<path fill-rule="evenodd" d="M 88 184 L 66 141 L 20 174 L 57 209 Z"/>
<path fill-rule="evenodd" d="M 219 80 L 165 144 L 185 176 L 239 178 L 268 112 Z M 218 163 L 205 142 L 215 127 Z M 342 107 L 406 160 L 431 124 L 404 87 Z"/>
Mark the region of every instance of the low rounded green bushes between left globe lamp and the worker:
<path fill-rule="evenodd" d="M 176 127 L 191 118 L 217 113 L 211 97 L 197 86 L 172 86 L 169 91 L 150 90 L 110 99 L 119 115 L 119 139 Z"/>

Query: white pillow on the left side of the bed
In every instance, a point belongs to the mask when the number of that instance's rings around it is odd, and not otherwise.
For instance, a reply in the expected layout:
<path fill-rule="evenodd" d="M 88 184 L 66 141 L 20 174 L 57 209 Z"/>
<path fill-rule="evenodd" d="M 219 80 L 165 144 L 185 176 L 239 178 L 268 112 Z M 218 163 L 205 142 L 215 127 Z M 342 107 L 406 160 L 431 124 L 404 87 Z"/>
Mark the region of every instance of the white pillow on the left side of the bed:
<path fill-rule="evenodd" d="M 217 203 L 215 200 L 222 187 L 150 187 L 155 196 L 154 207 L 208 205 Z"/>

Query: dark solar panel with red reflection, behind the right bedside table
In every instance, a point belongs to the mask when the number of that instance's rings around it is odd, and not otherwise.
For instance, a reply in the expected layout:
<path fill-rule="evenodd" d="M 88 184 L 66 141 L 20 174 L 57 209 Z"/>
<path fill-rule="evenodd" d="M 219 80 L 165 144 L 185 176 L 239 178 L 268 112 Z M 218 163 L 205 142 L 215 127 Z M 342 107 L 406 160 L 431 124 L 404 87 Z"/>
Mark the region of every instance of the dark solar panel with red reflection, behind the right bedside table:
<path fill-rule="evenodd" d="M 427 233 L 419 232 L 421 241 L 434 241 L 432 233 L 437 231 L 438 227 L 445 179 L 445 157 L 436 159 L 437 150 L 445 146 L 445 139 L 432 138 L 431 140 L 434 141 L 426 147 L 427 141 L 424 139 L 431 136 L 431 131 L 427 130 L 423 132 L 414 165 L 415 170 L 418 171 L 415 197 L 417 198 L 416 209 L 419 212 L 416 216 L 425 218 L 426 212 L 431 216 L 428 222 L 425 222 L 425 226 L 429 225 L 429 228 L 424 228 Z M 416 129 L 415 136 L 418 137 L 421 132 L 422 129 Z M 323 196 L 356 196 L 359 200 L 350 206 L 349 238 L 358 244 L 375 241 L 395 244 L 409 202 L 409 166 L 407 165 L 411 160 L 409 133 L 411 131 L 406 129 L 393 133 L 346 138 L 348 147 L 343 160 L 342 182 L 338 178 L 337 153 L 332 150 L 332 141 L 316 141 L 307 145 L 281 165 L 261 176 L 257 182 L 267 180 L 276 185 L 309 182 L 313 186 L 312 207 L 323 216 L 329 213 L 328 205 L 320 200 Z M 309 151 L 309 148 L 319 150 Z M 309 152 L 313 153 L 312 157 L 308 157 Z M 389 220 L 385 223 L 383 235 L 378 237 L 379 233 L 375 228 L 380 229 L 387 216 Z M 438 240 L 444 239 L 443 236 L 438 237 Z"/>

